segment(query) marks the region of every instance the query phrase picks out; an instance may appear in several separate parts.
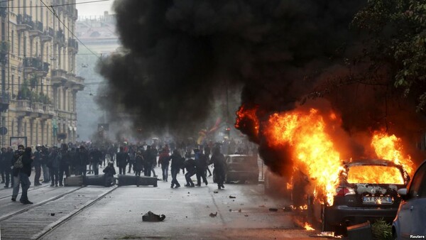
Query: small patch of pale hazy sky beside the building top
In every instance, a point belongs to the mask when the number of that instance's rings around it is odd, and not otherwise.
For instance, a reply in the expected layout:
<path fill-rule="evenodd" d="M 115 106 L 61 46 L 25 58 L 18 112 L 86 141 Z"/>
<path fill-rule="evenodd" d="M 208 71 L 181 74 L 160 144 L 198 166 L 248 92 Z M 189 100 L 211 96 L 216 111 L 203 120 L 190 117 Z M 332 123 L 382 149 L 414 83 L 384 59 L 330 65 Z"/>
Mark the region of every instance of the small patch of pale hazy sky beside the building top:
<path fill-rule="evenodd" d="M 94 1 L 94 2 L 93 2 Z M 87 3 L 87 4 L 80 4 Z M 79 17 L 103 16 L 104 11 L 112 13 L 111 6 L 114 0 L 99 1 L 99 0 L 77 0 L 76 8 Z"/>

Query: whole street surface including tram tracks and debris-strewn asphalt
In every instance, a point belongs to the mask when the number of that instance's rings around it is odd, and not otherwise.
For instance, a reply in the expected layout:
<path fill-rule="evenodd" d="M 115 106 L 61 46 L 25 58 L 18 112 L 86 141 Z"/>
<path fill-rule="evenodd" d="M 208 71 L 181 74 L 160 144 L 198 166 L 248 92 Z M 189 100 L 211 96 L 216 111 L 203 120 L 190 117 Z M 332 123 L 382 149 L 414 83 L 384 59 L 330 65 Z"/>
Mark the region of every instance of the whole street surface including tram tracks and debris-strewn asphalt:
<path fill-rule="evenodd" d="M 178 180 L 185 183 L 182 174 Z M 0 191 L 2 239 L 315 239 L 295 224 L 295 212 L 283 211 L 288 202 L 263 194 L 263 184 L 31 186 L 31 206 L 11 202 L 10 194 Z M 148 211 L 165 220 L 142 222 Z"/>

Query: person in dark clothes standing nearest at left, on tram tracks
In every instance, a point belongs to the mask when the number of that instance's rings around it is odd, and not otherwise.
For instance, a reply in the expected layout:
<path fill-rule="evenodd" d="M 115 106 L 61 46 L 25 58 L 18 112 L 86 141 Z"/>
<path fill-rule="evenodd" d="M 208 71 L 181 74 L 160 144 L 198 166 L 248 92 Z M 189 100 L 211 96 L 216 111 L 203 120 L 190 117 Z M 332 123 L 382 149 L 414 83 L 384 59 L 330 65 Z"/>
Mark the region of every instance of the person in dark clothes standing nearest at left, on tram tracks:
<path fill-rule="evenodd" d="M 19 202 L 23 204 L 33 204 L 28 200 L 28 188 L 30 188 L 31 163 L 33 163 L 32 149 L 25 148 L 22 156 L 22 168 L 19 171 L 19 180 L 21 181 L 22 194 Z"/>

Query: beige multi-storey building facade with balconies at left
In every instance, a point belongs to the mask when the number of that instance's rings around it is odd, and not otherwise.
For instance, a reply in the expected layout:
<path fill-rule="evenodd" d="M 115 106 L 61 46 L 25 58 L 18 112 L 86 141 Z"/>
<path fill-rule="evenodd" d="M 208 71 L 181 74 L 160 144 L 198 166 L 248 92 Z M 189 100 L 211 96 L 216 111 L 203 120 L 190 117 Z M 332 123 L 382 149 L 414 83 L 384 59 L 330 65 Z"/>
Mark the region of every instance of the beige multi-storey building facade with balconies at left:
<path fill-rule="evenodd" d="M 0 4 L 1 146 L 76 141 L 75 0 Z"/>

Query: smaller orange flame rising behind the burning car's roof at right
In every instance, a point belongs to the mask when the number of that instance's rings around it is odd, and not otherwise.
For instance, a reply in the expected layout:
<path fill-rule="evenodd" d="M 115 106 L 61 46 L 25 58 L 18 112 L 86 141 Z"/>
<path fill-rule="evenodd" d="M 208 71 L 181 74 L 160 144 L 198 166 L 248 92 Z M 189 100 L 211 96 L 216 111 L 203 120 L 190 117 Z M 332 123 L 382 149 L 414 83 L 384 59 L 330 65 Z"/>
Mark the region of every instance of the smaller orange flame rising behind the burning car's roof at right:
<path fill-rule="evenodd" d="M 388 136 L 386 133 L 383 134 L 383 131 L 375 131 L 371 146 L 376 151 L 378 158 L 391 160 L 393 163 L 403 165 L 408 175 L 413 176 L 414 163 L 409 155 L 404 156 L 403 144 L 400 138 L 395 135 Z"/>

